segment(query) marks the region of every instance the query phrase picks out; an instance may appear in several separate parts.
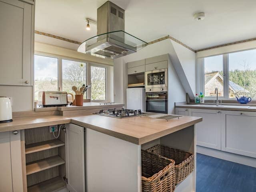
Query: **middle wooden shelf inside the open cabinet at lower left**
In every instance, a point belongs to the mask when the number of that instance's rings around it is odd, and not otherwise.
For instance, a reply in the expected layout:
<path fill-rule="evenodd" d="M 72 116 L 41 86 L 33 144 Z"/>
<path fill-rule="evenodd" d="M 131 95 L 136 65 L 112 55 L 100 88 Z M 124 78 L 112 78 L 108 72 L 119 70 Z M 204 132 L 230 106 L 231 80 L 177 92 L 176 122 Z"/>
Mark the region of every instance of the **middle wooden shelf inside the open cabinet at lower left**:
<path fill-rule="evenodd" d="M 52 156 L 46 159 L 38 160 L 26 165 L 26 174 L 30 175 L 42 170 L 50 169 L 52 167 L 62 165 L 65 161 L 60 156 Z"/>

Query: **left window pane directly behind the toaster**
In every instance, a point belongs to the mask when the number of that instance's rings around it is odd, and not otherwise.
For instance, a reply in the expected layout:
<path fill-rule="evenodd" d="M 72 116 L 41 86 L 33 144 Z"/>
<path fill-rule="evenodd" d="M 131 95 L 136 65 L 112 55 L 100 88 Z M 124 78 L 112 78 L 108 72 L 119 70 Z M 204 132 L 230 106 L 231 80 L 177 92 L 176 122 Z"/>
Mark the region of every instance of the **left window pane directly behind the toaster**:
<path fill-rule="evenodd" d="M 34 56 L 34 96 L 40 91 L 58 91 L 58 58 Z"/>

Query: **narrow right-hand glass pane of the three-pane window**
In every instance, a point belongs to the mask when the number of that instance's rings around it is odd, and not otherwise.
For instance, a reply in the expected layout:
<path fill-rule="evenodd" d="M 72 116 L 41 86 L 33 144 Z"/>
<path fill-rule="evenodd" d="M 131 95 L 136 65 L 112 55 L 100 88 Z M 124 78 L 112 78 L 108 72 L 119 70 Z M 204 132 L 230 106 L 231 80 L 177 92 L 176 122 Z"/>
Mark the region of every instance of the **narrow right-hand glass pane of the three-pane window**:
<path fill-rule="evenodd" d="M 106 100 L 106 68 L 91 66 L 92 100 Z"/>

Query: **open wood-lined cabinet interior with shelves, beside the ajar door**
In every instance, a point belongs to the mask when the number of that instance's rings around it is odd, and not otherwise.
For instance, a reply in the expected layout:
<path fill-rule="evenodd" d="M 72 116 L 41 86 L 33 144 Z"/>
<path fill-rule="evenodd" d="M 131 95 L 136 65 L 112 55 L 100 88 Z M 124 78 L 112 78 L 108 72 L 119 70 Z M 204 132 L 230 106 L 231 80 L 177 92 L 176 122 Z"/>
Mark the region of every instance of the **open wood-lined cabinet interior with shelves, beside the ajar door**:
<path fill-rule="evenodd" d="M 58 139 L 48 127 L 25 130 L 28 192 L 55 192 L 66 188 L 65 133 Z"/>

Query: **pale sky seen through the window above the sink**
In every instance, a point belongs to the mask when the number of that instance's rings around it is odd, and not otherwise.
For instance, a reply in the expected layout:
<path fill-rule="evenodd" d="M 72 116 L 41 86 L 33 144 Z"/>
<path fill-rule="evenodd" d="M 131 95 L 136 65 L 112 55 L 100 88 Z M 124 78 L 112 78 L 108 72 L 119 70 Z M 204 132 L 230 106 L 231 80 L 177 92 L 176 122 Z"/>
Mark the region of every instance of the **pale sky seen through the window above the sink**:
<path fill-rule="evenodd" d="M 222 55 L 204 58 L 205 72 L 222 71 Z M 229 54 L 229 70 L 244 70 L 244 61 L 249 65 L 250 70 L 256 70 L 256 49 Z"/>

